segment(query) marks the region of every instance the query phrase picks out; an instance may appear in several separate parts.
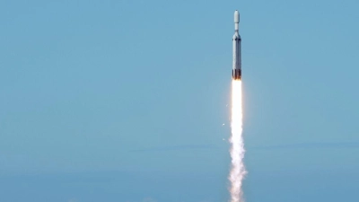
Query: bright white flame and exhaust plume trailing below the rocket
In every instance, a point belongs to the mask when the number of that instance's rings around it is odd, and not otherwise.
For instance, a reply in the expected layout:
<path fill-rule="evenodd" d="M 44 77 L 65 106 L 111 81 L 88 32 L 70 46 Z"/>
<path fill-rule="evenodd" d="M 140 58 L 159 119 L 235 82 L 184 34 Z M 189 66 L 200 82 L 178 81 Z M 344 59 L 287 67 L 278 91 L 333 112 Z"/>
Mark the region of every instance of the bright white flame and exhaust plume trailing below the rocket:
<path fill-rule="evenodd" d="M 242 132 L 242 111 L 241 111 L 241 80 L 232 80 L 232 136 L 230 142 L 232 168 L 229 176 L 231 181 L 231 202 L 243 202 L 241 190 L 242 180 L 246 174 L 244 168 L 244 144 Z"/>

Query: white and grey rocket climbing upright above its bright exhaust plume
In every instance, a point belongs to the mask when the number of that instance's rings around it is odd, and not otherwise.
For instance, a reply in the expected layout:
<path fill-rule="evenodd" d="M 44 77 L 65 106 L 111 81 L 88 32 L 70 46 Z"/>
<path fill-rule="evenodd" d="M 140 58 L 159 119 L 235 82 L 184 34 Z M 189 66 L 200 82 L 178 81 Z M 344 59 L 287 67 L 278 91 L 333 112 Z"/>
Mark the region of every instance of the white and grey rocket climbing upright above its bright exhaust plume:
<path fill-rule="evenodd" d="M 234 12 L 234 35 L 232 38 L 233 43 L 233 66 L 232 66 L 232 79 L 241 80 L 241 36 L 240 28 L 240 13 L 236 10 Z"/>

